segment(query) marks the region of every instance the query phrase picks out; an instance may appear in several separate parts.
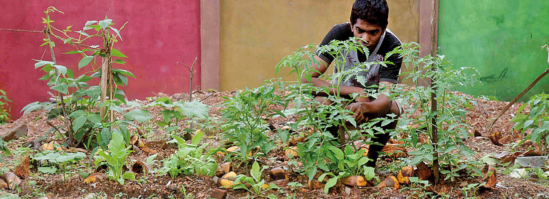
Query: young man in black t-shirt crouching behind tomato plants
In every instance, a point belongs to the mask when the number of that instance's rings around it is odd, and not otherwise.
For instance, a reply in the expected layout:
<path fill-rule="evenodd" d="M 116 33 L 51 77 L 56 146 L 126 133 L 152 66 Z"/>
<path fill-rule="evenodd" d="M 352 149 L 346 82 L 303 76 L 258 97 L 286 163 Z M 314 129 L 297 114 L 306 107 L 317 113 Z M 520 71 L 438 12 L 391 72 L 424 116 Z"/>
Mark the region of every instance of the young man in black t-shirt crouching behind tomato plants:
<path fill-rule="evenodd" d="M 332 30 L 326 34 L 326 37 L 322 40 L 322 45 L 327 45 L 332 40 L 348 40 L 352 37 L 362 38 L 359 40 L 362 45 L 366 45 L 369 51 L 369 56 L 361 52 L 350 52 L 349 56 L 345 59 L 344 70 L 357 66 L 359 62 L 373 62 L 383 61 L 385 55 L 391 50 L 401 45 L 400 40 L 387 29 L 389 17 L 389 7 L 385 0 L 357 0 L 352 5 L 350 22 L 344 24 L 335 25 Z M 316 53 L 316 60 L 320 63 L 313 65 L 312 67 L 318 71 L 318 73 L 312 73 L 311 81 L 305 77 L 301 78 L 302 83 L 312 83 L 314 86 L 327 86 L 335 84 L 330 83 L 318 78 L 321 74 L 326 72 L 330 63 L 334 60 L 334 57 L 328 53 L 319 54 Z M 398 75 L 400 73 L 400 67 L 402 64 L 402 58 L 399 55 L 394 54 L 388 57 L 387 61 L 394 63 L 393 65 L 387 65 L 382 67 L 380 65 L 373 65 L 368 71 L 361 72 L 358 75 L 363 75 L 366 79 L 366 87 L 370 85 L 378 85 L 380 88 L 396 84 Z M 334 71 L 335 73 L 336 71 Z M 365 86 L 358 83 L 354 78 L 349 81 L 344 81 L 339 89 L 340 96 L 349 96 L 351 93 L 361 93 L 365 91 Z M 331 101 L 324 98 L 327 95 L 335 95 L 337 92 L 332 87 L 329 88 L 329 93 L 316 93 L 315 100 L 319 103 L 326 105 L 332 104 Z M 353 118 L 356 119 L 357 124 L 362 124 L 368 119 L 385 117 L 388 114 L 400 115 L 402 112 L 400 103 L 397 101 L 390 101 L 388 96 L 380 94 L 377 99 L 369 99 L 367 97 L 358 98 L 352 104 L 347 107 L 351 112 L 354 112 Z M 394 129 L 396 127 L 396 120 L 391 124 L 383 126 L 385 129 Z M 337 128 L 330 130 L 337 131 Z M 336 132 L 332 132 L 335 134 Z M 376 161 L 384 145 L 389 140 L 389 133 L 376 134 L 376 138 L 373 138 L 373 142 L 380 143 L 382 145 L 371 145 L 368 150 L 368 157 L 373 161 L 368 162 L 367 166 L 375 167 Z M 377 169 L 376 169 L 377 171 Z"/>

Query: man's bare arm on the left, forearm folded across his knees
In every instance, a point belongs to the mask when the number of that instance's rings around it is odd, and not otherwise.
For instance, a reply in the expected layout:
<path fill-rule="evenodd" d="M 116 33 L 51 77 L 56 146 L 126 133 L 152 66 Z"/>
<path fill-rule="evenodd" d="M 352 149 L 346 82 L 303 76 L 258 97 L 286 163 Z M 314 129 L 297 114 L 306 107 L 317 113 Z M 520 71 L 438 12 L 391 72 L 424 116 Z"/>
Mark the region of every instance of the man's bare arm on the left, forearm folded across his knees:
<path fill-rule="evenodd" d="M 318 57 L 315 55 L 315 60 L 318 61 L 318 64 L 313 64 L 312 67 L 313 69 L 315 69 L 315 71 L 317 72 L 312 72 L 311 73 L 311 81 L 309 82 L 309 80 L 307 80 L 307 78 L 305 78 L 305 75 L 303 75 L 301 77 L 301 83 L 312 83 L 313 86 L 326 86 L 328 87 L 329 89 L 329 93 L 313 93 L 313 95 L 318 95 L 318 96 L 328 96 L 329 95 L 335 95 L 335 92 L 337 92 L 337 88 L 334 87 L 334 85 L 332 83 L 329 83 L 328 81 L 324 81 L 318 77 L 320 77 L 320 75 L 324 74 L 324 72 L 326 72 L 326 70 L 328 69 L 328 63 L 324 60 L 322 60 L 322 58 Z M 360 93 L 360 92 L 364 92 L 364 89 L 360 88 L 360 87 L 354 87 L 354 86 L 340 86 L 339 87 L 339 95 L 343 95 L 343 96 L 349 96 L 351 93 Z"/>

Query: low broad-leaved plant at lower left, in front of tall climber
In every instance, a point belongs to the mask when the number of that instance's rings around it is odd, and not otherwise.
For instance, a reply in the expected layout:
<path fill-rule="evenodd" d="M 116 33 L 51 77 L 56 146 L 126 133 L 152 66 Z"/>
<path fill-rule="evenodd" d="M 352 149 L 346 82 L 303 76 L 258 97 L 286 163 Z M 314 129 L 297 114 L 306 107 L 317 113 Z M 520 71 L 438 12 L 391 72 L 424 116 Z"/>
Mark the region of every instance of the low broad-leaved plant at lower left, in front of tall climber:
<path fill-rule="evenodd" d="M 72 168 L 74 163 L 77 163 L 84 157 L 86 157 L 86 154 L 81 152 L 59 153 L 47 150 L 42 153 L 35 154 L 32 159 L 41 162 L 38 167 L 38 171 L 41 173 L 54 174 L 57 172 L 58 168 L 60 168 L 61 173 L 63 173 L 63 180 L 65 180 L 65 173 L 68 170 L 67 167 Z"/>

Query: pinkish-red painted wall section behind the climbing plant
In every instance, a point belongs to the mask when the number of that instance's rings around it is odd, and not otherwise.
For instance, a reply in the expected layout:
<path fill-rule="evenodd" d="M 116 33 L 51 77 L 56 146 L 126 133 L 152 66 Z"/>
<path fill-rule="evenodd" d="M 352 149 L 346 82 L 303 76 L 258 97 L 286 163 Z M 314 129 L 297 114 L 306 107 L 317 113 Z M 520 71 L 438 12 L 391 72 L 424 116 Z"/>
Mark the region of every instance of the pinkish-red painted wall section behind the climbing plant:
<path fill-rule="evenodd" d="M 193 85 L 200 84 L 200 1 L 8 1 L 0 0 L 0 28 L 37 30 L 43 29 L 41 17 L 48 6 L 54 6 L 65 14 L 51 14 L 54 27 L 59 29 L 73 25 L 71 30 L 81 30 L 88 20 L 103 20 L 105 15 L 113 19 L 121 31 L 122 39 L 115 48 L 128 58 L 126 65 L 114 64 L 113 68 L 131 71 L 136 79 L 130 78 L 124 91 L 128 99 L 143 99 L 156 92 L 188 92 L 188 71 L 177 62 L 195 65 Z M 89 30 L 92 33 L 93 30 Z M 19 118 L 20 110 L 26 104 L 46 101 L 49 97 L 46 82 L 39 81 L 43 72 L 34 69 L 35 61 L 44 53 L 44 34 L 0 31 L 0 89 L 8 92 L 12 99 L 12 119 Z M 61 52 L 74 50 L 71 45 L 54 39 L 57 44 L 55 55 L 59 65 L 67 66 L 76 75 L 79 55 L 64 55 Z M 88 45 L 100 45 L 91 40 Z M 43 60 L 51 61 L 49 50 Z M 99 61 L 100 62 L 100 61 Z M 98 63 L 99 63 L 98 62 Z M 100 63 L 99 63 L 100 65 Z"/>

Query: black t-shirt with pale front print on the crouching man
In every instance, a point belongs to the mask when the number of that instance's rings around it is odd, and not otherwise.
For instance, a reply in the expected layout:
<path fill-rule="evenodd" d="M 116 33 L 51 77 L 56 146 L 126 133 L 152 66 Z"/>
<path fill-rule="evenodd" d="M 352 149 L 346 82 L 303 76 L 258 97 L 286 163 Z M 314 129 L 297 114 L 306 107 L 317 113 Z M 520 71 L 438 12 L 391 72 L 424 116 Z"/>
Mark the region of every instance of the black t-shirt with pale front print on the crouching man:
<path fill-rule="evenodd" d="M 351 24 L 350 22 L 346 22 L 343 24 L 335 25 L 332 30 L 326 34 L 326 37 L 322 40 L 322 45 L 326 45 L 330 43 L 332 40 L 348 40 L 349 38 L 354 37 L 354 34 L 351 31 Z M 401 42 L 399 38 L 395 36 L 392 32 L 389 31 L 389 29 L 385 30 L 385 36 L 383 38 L 383 41 L 381 41 L 381 45 L 379 46 L 379 49 L 377 50 L 376 54 L 379 55 L 381 58 L 385 57 L 385 54 L 387 52 L 392 51 L 393 49 L 397 48 L 401 45 Z M 370 52 L 372 53 L 372 52 Z M 334 60 L 334 57 L 327 52 L 324 52 L 323 54 L 318 54 L 318 57 L 322 58 L 322 60 L 326 61 L 328 63 L 328 66 L 332 61 Z M 400 73 L 400 67 L 402 65 L 402 58 L 399 57 L 399 54 L 393 54 L 389 58 L 387 58 L 387 61 L 393 62 L 394 65 L 387 65 L 387 67 L 380 67 L 379 73 L 377 74 L 377 82 L 374 81 L 374 83 L 379 83 L 379 81 L 389 81 L 391 83 L 398 83 L 398 76 Z M 367 60 L 368 57 L 366 57 L 365 54 L 361 52 L 357 52 L 358 61 L 364 62 Z M 381 60 L 378 60 L 381 61 Z M 367 77 L 368 79 L 368 77 Z M 363 86 L 360 86 L 363 87 Z"/>

